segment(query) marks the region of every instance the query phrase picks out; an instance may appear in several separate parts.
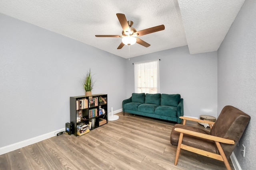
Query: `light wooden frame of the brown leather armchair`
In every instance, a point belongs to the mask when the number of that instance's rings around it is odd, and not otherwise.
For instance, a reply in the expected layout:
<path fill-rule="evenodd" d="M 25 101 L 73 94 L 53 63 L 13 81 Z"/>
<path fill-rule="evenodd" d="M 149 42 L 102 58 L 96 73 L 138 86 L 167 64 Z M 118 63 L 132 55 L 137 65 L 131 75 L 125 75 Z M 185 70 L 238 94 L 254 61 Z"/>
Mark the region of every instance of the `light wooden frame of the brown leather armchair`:
<path fill-rule="evenodd" d="M 210 129 L 212 129 L 212 125 L 214 125 L 214 122 L 212 121 L 206 121 L 206 120 L 201 120 L 201 119 L 193 119 L 190 117 L 184 117 L 184 116 L 180 116 L 181 119 L 183 119 L 183 125 L 186 125 L 186 120 L 190 120 L 190 121 L 196 121 L 196 122 L 201 122 L 201 123 L 207 123 L 210 126 Z M 184 149 L 184 150 L 188 150 L 190 152 L 194 152 L 203 156 L 207 156 L 210 158 L 214 158 L 217 160 L 221 160 L 224 162 L 226 168 L 228 170 L 231 170 L 230 164 L 228 163 L 228 160 L 226 158 L 226 155 L 220 145 L 220 143 L 226 143 L 226 144 L 230 144 L 230 145 L 234 145 L 235 142 L 233 140 L 230 139 L 225 139 L 225 138 L 221 138 L 221 137 L 216 137 L 216 136 L 212 136 L 212 135 L 207 135 L 207 134 L 203 134 L 203 133 L 198 133 L 195 131 L 190 131 L 190 130 L 186 130 L 186 129 L 181 129 L 181 128 L 175 128 L 175 131 L 180 132 L 180 137 L 179 137 L 179 141 L 178 141 L 178 147 L 177 147 L 177 151 L 176 151 L 176 157 L 175 157 L 175 162 L 174 165 L 177 165 L 178 163 L 178 158 L 180 155 L 180 149 Z M 215 142 L 216 147 L 218 148 L 220 154 L 216 154 L 216 153 L 212 153 L 212 152 L 208 152 L 205 150 L 201 150 L 201 149 L 197 149 L 194 147 L 190 147 L 188 145 L 184 145 L 182 144 L 182 139 L 183 139 L 183 134 L 187 134 L 187 135 L 192 135 L 192 136 L 196 136 L 196 137 L 200 137 L 200 138 L 204 138 L 204 139 L 209 139 Z"/>

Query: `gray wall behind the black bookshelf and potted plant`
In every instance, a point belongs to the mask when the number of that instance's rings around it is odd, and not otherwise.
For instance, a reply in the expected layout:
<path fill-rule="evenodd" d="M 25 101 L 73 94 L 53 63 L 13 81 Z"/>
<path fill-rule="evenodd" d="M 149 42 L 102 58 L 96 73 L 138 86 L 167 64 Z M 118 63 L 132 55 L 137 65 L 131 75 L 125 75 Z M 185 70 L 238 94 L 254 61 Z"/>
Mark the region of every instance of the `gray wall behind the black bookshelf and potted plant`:
<path fill-rule="evenodd" d="M 3 14 L 0 25 L 0 147 L 65 127 L 88 68 L 92 93 L 122 108 L 125 59 Z"/>

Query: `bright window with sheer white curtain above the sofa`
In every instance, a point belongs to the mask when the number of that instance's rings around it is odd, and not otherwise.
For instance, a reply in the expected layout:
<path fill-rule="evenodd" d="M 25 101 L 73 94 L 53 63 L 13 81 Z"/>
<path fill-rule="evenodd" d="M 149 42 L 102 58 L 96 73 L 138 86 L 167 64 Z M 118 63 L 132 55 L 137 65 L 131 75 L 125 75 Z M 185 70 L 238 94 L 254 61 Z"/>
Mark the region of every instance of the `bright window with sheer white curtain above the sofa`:
<path fill-rule="evenodd" d="M 160 93 L 159 60 L 134 63 L 136 93 Z"/>

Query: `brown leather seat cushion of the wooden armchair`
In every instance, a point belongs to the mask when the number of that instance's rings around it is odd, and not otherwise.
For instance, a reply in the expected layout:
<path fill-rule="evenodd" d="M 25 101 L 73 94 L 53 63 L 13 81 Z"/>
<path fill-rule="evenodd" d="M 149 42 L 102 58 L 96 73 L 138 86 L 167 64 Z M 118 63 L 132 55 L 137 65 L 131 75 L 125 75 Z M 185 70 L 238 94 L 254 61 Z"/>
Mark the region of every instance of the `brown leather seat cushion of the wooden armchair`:
<path fill-rule="evenodd" d="M 186 130 L 195 131 L 195 132 L 210 135 L 210 131 L 207 131 L 207 130 L 204 130 L 204 129 L 200 129 L 200 128 L 192 127 L 192 126 L 187 126 L 187 125 L 176 124 L 176 125 L 174 125 L 174 127 L 172 129 L 171 138 L 170 138 L 171 144 L 175 145 L 175 146 L 178 146 L 178 141 L 179 141 L 179 137 L 180 137 L 180 132 L 175 131 L 174 130 L 175 128 L 181 128 L 181 129 L 186 129 Z M 202 149 L 202 150 L 206 150 L 206 151 L 209 151 L 209 152 L 212 152 L 212 153 L 219 154 L 218 149 L 216 148 L 216 145 L 215 145 L 214 141 L 211 141 L 211 140 L 208 140 L 208 139 L 203 139 L 203 138 L 200 138 L 200 137 L 194 137 L 194 136 L 191 136 L 191 135 L 184 134 L 183 139 L 182 139 L 182 144 L 188 145 L 190 147 L 194 147 L 194 148 L 197 148 L 197 149 Z"/>

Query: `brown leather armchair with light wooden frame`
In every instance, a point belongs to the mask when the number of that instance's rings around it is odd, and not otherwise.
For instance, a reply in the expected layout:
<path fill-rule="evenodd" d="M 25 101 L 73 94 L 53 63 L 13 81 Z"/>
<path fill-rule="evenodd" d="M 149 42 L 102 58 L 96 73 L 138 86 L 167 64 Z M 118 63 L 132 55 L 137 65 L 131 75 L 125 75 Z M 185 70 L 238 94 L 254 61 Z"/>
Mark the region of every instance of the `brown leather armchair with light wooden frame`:
<path fill-rule="evenodd" d="M 228 159 L 246 129 L 250 116 L 233 106 L 225 106 L 216 122 L 180 117 L 183 125 L 174 125 L 170 137 L 172 145 L 177 146 L 174 165 L 177 165 L 180 149 L 188 150 L 224 162 L 231 170 Z M 208 123 L 210 131 L 187 126 L 186 120 Z"/>

